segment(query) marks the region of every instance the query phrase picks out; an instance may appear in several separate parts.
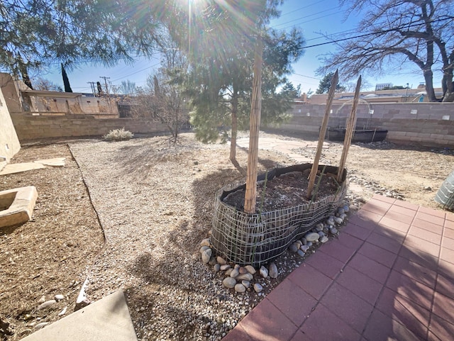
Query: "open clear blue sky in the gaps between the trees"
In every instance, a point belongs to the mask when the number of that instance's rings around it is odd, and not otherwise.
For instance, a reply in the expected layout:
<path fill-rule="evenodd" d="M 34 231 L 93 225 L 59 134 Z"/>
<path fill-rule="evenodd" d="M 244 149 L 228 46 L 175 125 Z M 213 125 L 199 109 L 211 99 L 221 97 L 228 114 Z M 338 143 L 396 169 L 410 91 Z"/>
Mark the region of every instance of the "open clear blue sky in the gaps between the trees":
<path fill-rule="evenodd" d="M 194 0 L 192 0 L 194 1 Z M 310 47 L 326 43 L 326 38 L 320 33 L 334 34 L 343 33 L 346 30 L 352 30 L 355 24 L 360 21 L 358 16 L 350 16 L 345 19 L 345 9 L 338 5 L 338 0 L 284 0 L 283 6 L 280 7 L 282 14 L 280 18 L 274 19 L 271 26 L 279 30 L 290 30 L 293 27 L 301 28 L 306 48 L 304 55 L 298 62 L 292 65 L 293 74 L 288 76 L 294 86 L 301 85 L 302 92 L 309 90 L 315 91 L 320 79 L 316 69 L 321 65 L 319 58 L 321 55 L 333 51 L 332 44 Z M 375 89 L 375 84 L 392 83 L 393 85 L 406 86 L 408 83 L 411 88 L 416 88 L 424 82 L 422 72 L 417 67 L 412 66 L 409 62 L 406 69 L 392 69 L 386 77 L 374 79 L 371 77 L 364 78 L 363 84 L 366 88 L 363 90 Z M 122 81 L 130 80 L 135 82 L 136 86 L 144 86 L 150 73 L 153 73 L 159 67 L 159 55 L 153 59 L 139 58 L 133 65 L 125 65 L 119 62 L 116 67 L 102 67 L 100 65 L 79 65 L 76 69 L 68 70 L 67 74 L 70 79 L 72 91 L 74 92 L 91 92 L 89 82 L 102 82 L 104 78 L 113 85 L 120 85 Z M 342 75 L 342 70 L 339 70 Z M 60 74 L 60 65 L 50 67 L 50 72 L 41 74 L 40 77 L 49 79 L 53 83 L 62 86 Z M 434 75 L 434 85 L 440 86 L 440 79 Z M 367 84 L 369 87 L 367 87 Z"/>

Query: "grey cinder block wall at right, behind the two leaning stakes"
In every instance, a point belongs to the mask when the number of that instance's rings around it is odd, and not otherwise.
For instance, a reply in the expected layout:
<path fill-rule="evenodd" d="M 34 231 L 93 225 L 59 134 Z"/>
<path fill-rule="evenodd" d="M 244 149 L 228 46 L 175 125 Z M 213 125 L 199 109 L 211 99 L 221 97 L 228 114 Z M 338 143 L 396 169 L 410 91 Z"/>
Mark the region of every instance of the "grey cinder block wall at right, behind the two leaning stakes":
<path fill-rule="evenodd" d="M 333 105 L 328 126 L 345 128 L 350 111 L 351 103 Z M 279 130 L 319 134 L 325 105 L 295 104 L 291 113 L 292 119 Z M 387 129 L 392 142 L 454 147 L 454 103 L 359 104 L 356 126 Z"/>

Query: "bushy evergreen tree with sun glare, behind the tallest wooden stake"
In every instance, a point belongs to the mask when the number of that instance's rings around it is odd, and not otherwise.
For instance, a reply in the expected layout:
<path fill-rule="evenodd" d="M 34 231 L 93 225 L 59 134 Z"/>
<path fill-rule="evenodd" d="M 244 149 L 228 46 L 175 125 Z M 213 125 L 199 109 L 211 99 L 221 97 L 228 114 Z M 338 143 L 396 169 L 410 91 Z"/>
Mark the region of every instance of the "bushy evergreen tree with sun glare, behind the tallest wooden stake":
<path fill-rule="evenodd" d="M 185 79 L 192 104 L 191 123 L 196 137 L 214 142 L 219 135 L 231 138 L 235 159 L 236 132 L 249 122 L 253 87 L 254 47 L 263 42 L 262 118 L 264 124 L 287 117 L 291 95 L 277 92 L 287 83 L 291 63 L 302 55 L 299 30 L 282 32 L 267 27 L 278 16 L 279 0 L 205 1 L 191 19 L 188 39 L 179 40 L 188 51 L 189 73 Z M 266 5 L 266 6 L 265 6 Z M 200 6 L 200 4 L 199 4 Z M 185 28 L 182 26 L 182 28 Z M 174 33 L 177 39 L 184 33 Z"/>

